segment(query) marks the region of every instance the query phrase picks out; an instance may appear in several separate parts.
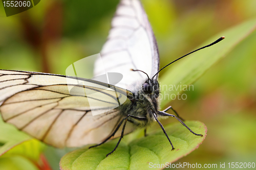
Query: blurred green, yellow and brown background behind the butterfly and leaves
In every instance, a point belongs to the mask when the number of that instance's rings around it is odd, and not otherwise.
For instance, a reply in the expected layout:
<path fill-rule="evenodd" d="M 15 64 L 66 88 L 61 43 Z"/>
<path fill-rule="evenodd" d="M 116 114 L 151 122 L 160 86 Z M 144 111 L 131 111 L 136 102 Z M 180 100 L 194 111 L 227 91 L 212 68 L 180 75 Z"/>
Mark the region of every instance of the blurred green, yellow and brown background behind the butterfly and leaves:
<path fill-rule="evenodd" d="M 100 52 L 118 2 L 41 1 L 10 17 L 0 3 L 0 69 L 65 75 L 73 62 Z M 211 36 L 256 17 L 254 0 L 143 0 L 142 4 L 158 41 L 160 67 Z M 171 103 L 181 117 L 199 120 L 208 128 L 200 147 L 176 163 L 256 162 L 255 44 L 254 31 L 205 72 L 194 91 L 186 91 L 187 100 Z M 163 70 L 160 80 L 164 74 L 168 72 Z M 162 123 L 175 121 L 169 118 Z M 66 152 L 47 147 L 45 156 L 52 169 L 59 168 Z"/>

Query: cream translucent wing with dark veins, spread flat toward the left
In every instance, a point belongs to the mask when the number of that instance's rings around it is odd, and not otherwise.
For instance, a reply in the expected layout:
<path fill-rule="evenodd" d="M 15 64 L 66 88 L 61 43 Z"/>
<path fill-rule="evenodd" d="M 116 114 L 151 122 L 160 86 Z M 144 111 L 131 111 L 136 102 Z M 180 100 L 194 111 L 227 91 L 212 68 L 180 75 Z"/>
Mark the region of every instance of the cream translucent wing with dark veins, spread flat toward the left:
<path fill-rule="evenodd" d="M 67 79 L 74 84 L 67 84 Z M 78 85 L 77 80 L 88 86 Z M 55 147 L 99 143 L 123 117 L 116 109 L 93 116 L 89 97 L 82 92 L 100 91 L 94 95 L 94 109 L 104 111 L 116 103 L 116 94 L 121 101 L 129 93 L 118 87 L 116 91 L 105 88 L 110 86 L 89 79 L 0 70 L 0 112 L 5 122 Z M 115 137 L 119 135 L 118 132 Z"/>

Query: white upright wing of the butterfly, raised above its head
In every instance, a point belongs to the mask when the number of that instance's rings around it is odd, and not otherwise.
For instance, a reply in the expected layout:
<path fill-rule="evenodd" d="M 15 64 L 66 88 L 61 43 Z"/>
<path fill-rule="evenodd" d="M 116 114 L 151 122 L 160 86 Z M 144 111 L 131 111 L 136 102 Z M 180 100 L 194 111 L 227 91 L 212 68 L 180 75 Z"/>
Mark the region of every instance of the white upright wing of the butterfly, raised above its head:
<path fill-rule="evenodd" d="M 159 69 L 158 47 L 150 22 L 139 0 L 121 0 L 112 20 L 112 29 L 101 57 L 104 68 L 95 62 L 94 74 L 119 72 L 123 75 L 119 86 L 136 91 L 146 75 L 131 69 L 140 69 L 153 77 Z"/>

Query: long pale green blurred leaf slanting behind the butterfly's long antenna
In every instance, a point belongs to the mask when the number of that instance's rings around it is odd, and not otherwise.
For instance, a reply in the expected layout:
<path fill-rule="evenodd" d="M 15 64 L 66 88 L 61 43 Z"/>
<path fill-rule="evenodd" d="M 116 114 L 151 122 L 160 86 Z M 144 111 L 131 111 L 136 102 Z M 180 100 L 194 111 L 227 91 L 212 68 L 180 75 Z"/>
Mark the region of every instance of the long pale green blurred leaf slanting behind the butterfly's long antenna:
<path fill-rule="evenodd" d="M 214 42 L 221 36 L 225 36 L 225 39 L 221 42 L 191 54 L 175 64 L 172 64 L 172 66 L 169 66 L 165 74 L 159 80 L 162 85 L 160 94 L 161 107 L 164 107 L 175 98 L 178 98 L 177 94 L 186 91 L 185 87 L 187 87 L 188 90 L 188 85 L 195 82 L 207 69 L 221 58 L 225 57 L 234 47 L 255 31 L 255 23 L 255 19 L 249 20 L 239 26 L 224 31 L 210 38 L 199 47 Z M 190 87 L 190 90 L 193 90 L 193 87 Z M 179 96 L 179 98 L 181 98 L 181 96 Z M 183 96 L 183 98 L 185 98 L 185 96 Z"/>

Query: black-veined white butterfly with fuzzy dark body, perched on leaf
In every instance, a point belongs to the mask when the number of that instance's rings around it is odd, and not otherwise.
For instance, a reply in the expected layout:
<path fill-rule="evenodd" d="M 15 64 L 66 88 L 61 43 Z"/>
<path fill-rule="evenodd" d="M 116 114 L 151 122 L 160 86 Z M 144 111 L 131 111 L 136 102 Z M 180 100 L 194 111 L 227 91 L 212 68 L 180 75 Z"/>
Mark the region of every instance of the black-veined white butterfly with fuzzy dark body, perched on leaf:
<path fill-rule="evenodd" d="M 97 147 L 119 137 L 109 154 L 116 150 L 125 134 L 153 122 L 160 125 L 174 150 L 158 120 L 165 116 L 175 117 L 191 133 L 202 136 L 189 129 L 171 106 L 159 111 L 158 74 L 187 55 L 159 70 L 156 38 L 139 0 L 120 1 L 100 55 L 106 67 L 102 68 L 100 60 L 96 60 L 94 76 L 118 72 L 123 76 L 118 86 L 72 76 L 0 70 L 0 112 L 4 121 L 58 148 L 91 143 L 98 143 L 93 146 Z M 176 115 L 166 113 L 168 109 Z M 93 111 L 102 114 L 93 115 Z"/>

